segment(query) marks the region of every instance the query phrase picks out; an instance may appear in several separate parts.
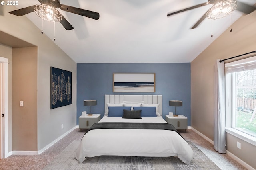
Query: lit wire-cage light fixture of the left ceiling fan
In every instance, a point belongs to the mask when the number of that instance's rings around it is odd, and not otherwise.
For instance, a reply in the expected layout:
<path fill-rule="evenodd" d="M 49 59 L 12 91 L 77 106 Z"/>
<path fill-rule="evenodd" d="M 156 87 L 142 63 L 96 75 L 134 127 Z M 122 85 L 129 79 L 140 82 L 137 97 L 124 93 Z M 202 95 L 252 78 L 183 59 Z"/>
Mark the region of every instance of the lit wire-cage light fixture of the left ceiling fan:
<path fill-rule="evenodd" d="M 62 20 L 60 12 L 50 5 L 36 5 L 34 11 L 36 12 L 37 16 L 47 21 L 59 22 Z"/>

